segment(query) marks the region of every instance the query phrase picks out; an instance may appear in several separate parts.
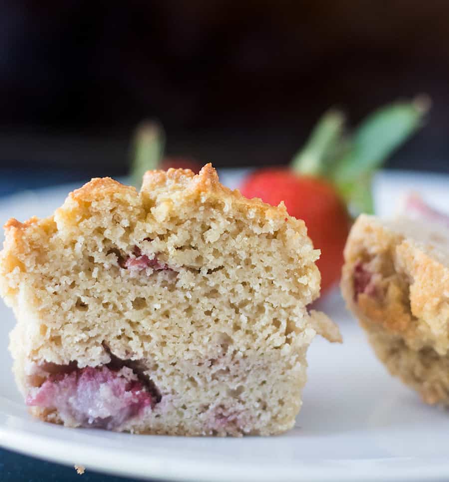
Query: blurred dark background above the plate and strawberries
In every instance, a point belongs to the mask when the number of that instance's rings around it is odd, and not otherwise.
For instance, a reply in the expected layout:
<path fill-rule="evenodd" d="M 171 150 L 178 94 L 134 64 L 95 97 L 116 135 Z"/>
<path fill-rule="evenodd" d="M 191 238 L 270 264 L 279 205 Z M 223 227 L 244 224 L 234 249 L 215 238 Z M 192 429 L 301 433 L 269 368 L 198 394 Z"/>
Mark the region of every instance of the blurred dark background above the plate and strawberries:
<path fill-rule="evenodd" d="M 448 21 L 444 0 L 2 1 L 0 175 L 125 174 L 143 118 L 172 155 L 286 163 L 330 106 L 423 92 L 388 165 L 449 172 Z"/>

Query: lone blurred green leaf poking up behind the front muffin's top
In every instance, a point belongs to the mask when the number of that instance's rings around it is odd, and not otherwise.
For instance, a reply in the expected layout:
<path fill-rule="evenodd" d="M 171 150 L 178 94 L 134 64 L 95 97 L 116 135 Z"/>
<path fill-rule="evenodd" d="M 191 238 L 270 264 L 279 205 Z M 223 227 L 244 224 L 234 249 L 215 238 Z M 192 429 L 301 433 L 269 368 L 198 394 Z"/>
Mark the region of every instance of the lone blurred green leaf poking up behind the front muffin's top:
<path fill-rule="evenodd" d="M 131 181 L 136 187 L 142 184 L 147 170 L 157 169 L 164 155 L 165 133 L 157 122 L 145 121 L 135 132 L 131 145 Z"/>

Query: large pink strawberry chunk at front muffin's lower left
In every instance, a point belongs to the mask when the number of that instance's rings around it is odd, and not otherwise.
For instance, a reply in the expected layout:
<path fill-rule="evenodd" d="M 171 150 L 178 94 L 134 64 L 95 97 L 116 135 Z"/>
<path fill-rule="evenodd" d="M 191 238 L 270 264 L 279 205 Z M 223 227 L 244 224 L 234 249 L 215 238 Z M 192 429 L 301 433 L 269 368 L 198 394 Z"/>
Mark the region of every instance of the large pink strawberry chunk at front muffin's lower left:
<path fill-rule="evenodd" d="M 137 375 L 126 366 L 114 370 L 107 366 L 75 368 L 50 374 L 40 387 L 32 388 L 28 406 L 57 410 L 61 419 L 82 427 L 113 430 L 139 415 L 157 400 Z"/>

